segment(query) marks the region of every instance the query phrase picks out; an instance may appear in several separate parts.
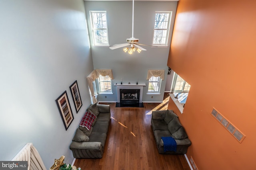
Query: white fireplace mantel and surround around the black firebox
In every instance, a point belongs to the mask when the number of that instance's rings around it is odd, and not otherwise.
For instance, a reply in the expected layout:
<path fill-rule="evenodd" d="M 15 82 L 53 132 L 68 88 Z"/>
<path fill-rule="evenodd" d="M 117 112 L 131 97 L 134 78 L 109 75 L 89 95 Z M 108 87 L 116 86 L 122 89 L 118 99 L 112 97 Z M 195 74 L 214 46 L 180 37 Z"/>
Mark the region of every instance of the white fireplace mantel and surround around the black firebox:
<path fill-rule="evenodd" d="M 140 100 L 139 102 L 142 103 L 142 94 L 143 94 L 143 86 L 146 86 L 145 83 L 140 84 L 115 84 L 117 89 L 117 102 L 120 103 L 120 89 L 140 89 Z"/>

